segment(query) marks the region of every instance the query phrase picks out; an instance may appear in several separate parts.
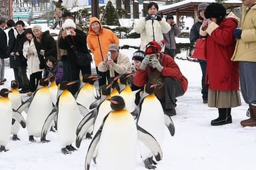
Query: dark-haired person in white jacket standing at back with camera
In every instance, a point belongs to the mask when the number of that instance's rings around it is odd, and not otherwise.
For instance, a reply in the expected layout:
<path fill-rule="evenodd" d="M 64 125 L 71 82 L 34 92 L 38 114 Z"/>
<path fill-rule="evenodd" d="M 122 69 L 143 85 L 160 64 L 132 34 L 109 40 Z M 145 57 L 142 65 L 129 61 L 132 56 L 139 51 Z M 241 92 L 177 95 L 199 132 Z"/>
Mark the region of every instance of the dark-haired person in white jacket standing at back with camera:
<path fill-rule="evenodd" d="M 136 33 L 141 34 L 141 50 L 145 51 L 145 46 L 150 41 L 163 40 L 163 34 L 171 29 L 169 23 L 157 14 L 157 3 L 151 2 L 147 5 L 147 16 L 137 21 L 133 27 Z"/>

